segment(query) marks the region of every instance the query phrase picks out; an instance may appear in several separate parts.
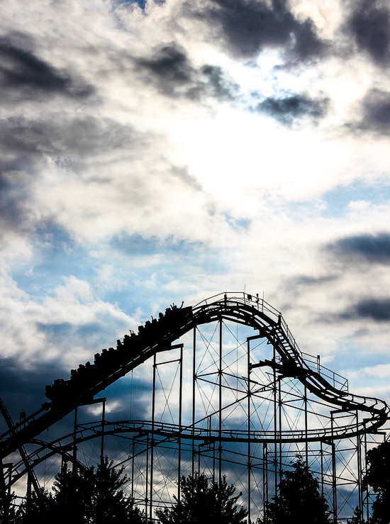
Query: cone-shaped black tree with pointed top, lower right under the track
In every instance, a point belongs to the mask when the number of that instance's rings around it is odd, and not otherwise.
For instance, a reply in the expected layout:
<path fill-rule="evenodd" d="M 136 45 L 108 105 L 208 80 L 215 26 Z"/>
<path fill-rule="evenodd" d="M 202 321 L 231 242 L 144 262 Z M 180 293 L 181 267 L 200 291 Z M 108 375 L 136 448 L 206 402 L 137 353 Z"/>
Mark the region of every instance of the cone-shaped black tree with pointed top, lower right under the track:
<path fill-rule="evenodd" d="M 330 512 L 321 495 L 318 479 L 308 469 L 302 457 L 292 464 L 293 470 L 283 473 L 278 494 L 266 508 L 267 524 L 328 524 Z"/>

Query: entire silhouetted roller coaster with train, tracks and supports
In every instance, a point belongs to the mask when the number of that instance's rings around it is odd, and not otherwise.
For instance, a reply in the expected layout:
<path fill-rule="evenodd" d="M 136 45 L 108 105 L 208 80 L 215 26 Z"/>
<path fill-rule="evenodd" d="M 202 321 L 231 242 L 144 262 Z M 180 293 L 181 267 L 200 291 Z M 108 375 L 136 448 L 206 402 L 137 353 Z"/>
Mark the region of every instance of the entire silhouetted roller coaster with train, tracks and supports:
<path fill-rule="evenodd" d="M 133 371 L 145 389 L 131 400 L 133 411 L 145 416 L 109 421 L 106 398 L 95 397 L 121 380 L 129 389 L 130 376 L 133 388 Z M 283 472 L 301 455 L 334 523 L 355 506 L 361 521 L 370 514 L 366 455 L 385 437 L 389 406 L 352 394 L 319 356 L 301 352 L 282 314 L 258 295 L 223 293 L 194 307 L 171 306 L 116 349 L 46 386 L 45 395 L 42 407 L 16 424 L 0 401 L 9 427 L 0 435 L 4 494 L 23 478 L 38 492 L 43 463 L 85 467 L 89 445 L 96 462 L 109 450 L 126 466 L 128 496 L 150 522 L 156 507 L 179 496 L 182 474 L 195 471 L 214 481 L 226 475 L 243 493 L 248 522 L 259 515 L 266 522 Z M 82 406 L 96 403 L 101 418 L 82 422 Z M 69 417 L 72 428 L 49 440 L 48 428 Z"/>

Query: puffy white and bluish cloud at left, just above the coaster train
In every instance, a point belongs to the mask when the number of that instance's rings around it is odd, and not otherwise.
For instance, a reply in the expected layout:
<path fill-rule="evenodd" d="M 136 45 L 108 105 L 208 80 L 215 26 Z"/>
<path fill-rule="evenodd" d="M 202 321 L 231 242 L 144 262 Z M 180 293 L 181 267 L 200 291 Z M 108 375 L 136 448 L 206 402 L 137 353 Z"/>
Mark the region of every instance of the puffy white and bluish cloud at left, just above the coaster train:
<path fill-rule="evenodd" d="M 39 299 L 2 277 L 1 356 L 18 356 L 18 365 L 34 368 L 56 362 L 69 369 L 90 359 L 104 344 L 112 346 L 135 322 L 111 303 L 96 299 L 90 284 L 64 277 L 64 284 Z"/>

